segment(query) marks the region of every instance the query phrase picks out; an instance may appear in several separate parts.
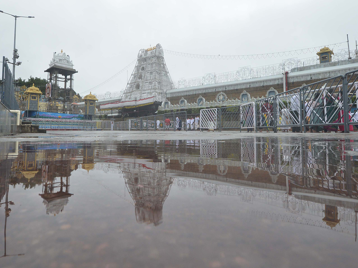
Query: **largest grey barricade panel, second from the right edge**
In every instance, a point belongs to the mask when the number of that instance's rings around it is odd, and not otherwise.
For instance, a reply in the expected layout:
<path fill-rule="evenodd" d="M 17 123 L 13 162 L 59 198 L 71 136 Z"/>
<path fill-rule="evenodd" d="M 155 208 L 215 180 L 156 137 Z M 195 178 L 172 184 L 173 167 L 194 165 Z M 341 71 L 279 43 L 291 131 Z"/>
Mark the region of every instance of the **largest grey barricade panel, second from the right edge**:
<path fill-rule="evenodd" d="M 348 112 L 348 101 L 343 101 L 347 99 L 347 91 L 343 90 L 347 86 L 344 81 L 344 76 L 338 75 L 303 86 L 305 131 L 306 128 L 316 132 L 344 130 L 344 106 L 347 106 L 345 110 Z"/>

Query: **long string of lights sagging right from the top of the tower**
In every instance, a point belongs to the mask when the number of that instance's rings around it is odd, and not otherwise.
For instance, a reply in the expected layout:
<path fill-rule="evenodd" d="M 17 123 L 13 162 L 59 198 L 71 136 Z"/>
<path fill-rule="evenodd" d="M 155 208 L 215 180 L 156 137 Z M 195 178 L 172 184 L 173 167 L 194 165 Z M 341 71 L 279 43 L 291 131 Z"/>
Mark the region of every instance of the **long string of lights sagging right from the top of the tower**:
<path fill-rule="evenodd" d="M 343 43 L 347 43 L 347 41 L 335 43 L 335 44 L 324 45 L 324 46 L 328 46 L 330 49 L 333 49 L 335 46 L 343 44 Z M 314 46 L 312 48 L 305 48 L 305 49 L 296 49 L 296 50 L 264 53 L 264 54 L 250 54 L 250 55 L 203 55 L 203 54 L 192 54 L 192 53 L 178 52 L 178 51 L 173 51 L 173 50 L 168 50 L 168 49 L 164 49 L 164 51 L 166 53 L 174 55 L 174 56 L 182 56 L 182 57 L 196 58 L 196 59 L 247 60 L 247 59 L 276 58 L 276 57 L 282 57 L 282 56 L 294 56 L 297 53 L 301 53 L 301 54 L 316 53 L 319 51 L 319 49 L 323 48 L 324 46 Z"/>

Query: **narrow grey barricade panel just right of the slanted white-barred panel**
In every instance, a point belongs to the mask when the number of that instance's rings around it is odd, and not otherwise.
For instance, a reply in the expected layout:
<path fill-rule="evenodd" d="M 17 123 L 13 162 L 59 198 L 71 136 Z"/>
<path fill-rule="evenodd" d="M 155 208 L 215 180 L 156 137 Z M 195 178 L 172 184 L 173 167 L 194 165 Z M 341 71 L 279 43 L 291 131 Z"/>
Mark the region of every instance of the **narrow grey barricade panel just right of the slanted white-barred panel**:
<path fill-rule="evenodd" d="M 256 112 L 256 130 L 272 128 L 276 132 L 276 105 L 275 96 L 270 96 L 255 101 Z"/>

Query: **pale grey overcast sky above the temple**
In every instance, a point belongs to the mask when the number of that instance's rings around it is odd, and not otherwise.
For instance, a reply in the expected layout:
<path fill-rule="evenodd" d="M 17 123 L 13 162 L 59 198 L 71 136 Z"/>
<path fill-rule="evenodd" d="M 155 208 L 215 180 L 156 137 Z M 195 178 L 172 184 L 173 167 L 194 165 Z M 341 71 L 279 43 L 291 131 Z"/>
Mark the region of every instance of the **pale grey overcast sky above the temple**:
<path fill-rule="evenodd" d="M 160 43 L 194 54 L 245 55 L 310 48 L 350 39 L 355 49 L 357 0 L 157 0 L 1 1 L 0 10 L 18 16 L 16 48 L 23 64 L 16 78 L 47 78 L 53 52 L 63 49 L 78 73 L 74 90 L 88 90 L 135 60 L 138 51 Z M 12 57 L 14 18 L 0 13 L 0 56 Z M 346 48 L 347 43 L 340 46 Z M 334 49 L 335 51 L 336 49 Z M 300 58 L 315 56 L 297 55 Z M 241 66 L 280 63 L 284 58 L 203 60 L 165 54 L 171 78 L 223 73 Z M 134 64 L 128 68 L 128 78 Z M 124 71 L 94 93 L 125 88 Z M 93 93 L 93 92 L 92 92 Z"/>

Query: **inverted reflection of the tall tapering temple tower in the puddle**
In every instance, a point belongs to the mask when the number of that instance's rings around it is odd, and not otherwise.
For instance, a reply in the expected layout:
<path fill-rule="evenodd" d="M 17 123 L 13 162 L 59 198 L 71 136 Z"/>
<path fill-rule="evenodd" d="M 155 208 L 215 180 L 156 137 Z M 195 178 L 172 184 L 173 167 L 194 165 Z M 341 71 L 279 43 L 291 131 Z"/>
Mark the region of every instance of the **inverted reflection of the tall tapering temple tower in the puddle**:
<path fill-rule="evenodd" d="M 153 168 L 145 164 L 128 163 L 123 173 L 135 203 L 137 222 L 159 225 L 163 218 L 163 203 L 173 183 L 172 178 L 165 176 L 164 163 L 154 162 Z"/>

